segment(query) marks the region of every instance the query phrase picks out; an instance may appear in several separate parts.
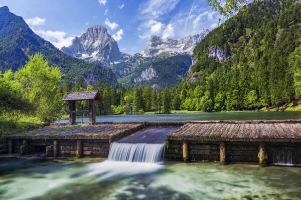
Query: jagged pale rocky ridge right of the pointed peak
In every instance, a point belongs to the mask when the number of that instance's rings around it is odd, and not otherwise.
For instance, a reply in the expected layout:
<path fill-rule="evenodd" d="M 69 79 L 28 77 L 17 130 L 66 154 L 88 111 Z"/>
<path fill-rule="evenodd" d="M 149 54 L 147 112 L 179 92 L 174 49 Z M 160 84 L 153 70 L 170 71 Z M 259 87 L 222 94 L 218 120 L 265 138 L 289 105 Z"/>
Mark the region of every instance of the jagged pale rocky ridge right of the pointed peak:
<path fill-rule="evenodd" d="M 140 52 L 143 57 L 159 55 L 161 53 L 177 54 L 188 53 L 192 54 L 195 46 L 210 32 L 209 29 L 203 29 L 196 35 L 189 35 L 179 40 L 171 38 L 161 38 L 153 35 L 149 39 L 147 46 Z"/>

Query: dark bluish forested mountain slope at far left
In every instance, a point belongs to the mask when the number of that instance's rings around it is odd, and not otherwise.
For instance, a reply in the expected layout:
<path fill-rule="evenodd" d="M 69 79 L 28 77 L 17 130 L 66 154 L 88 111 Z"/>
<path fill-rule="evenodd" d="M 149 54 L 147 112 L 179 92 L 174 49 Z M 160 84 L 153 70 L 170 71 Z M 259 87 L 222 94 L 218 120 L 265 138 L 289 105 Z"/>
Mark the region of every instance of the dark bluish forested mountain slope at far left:
<path fill-rule="evenodd" d="M 16 71 L 26 64 L 29 56 L 37 52 L 43 53 L 50 64 L 60 66 L 64 73 L 70 73 L 73 78 L 83 76 L 86 84 L 98 80 L 116 84 L 111 69 L 65 54 L 35 34 L 21 16 L 10 12 L 7 6 L 0 7 L 0 70 Z"/>

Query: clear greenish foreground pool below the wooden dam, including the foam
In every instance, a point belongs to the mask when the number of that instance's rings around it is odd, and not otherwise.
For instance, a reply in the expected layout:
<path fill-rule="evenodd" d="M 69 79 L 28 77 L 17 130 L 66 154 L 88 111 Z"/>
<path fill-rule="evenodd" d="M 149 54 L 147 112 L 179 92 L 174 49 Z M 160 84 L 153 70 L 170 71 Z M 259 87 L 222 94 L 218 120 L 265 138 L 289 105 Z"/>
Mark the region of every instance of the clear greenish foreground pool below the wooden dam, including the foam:
<path fill-rule="evenodd" d="M 0 199 L 301 199 L 301 167 L 0 160 Z"/>

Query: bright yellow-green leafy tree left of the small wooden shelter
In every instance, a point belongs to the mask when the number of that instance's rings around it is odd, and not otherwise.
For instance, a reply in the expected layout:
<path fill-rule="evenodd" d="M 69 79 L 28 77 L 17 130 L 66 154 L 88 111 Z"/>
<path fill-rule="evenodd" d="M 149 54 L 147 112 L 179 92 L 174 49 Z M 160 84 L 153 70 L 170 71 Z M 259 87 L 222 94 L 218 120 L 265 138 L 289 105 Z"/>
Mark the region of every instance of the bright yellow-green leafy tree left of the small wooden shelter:
<path fill-rule="evenodd" d="M 35 113 L 43 121 L 53 121 L 60 115 L 62 73 L 58 66 L 50 66 L 41 53 L 29 58 L 26 65 L 16 71 L 23 98 L 35 106 Z"/>

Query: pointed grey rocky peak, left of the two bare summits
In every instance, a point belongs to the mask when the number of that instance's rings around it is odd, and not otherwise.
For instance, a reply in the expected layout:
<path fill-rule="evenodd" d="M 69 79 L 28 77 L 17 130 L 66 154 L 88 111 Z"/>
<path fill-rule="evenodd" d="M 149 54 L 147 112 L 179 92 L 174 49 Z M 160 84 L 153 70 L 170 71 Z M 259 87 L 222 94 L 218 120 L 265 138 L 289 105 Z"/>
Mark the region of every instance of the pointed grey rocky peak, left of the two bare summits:
<path fill-rule="evenodd" d="M 70 46 L 64 46 L 61 50 L 73 57 L 102 65 L 108 65 L 122 57 L 117 42 L 101 25 L 88 28 L 80 37 L 76 36 Z"/>

